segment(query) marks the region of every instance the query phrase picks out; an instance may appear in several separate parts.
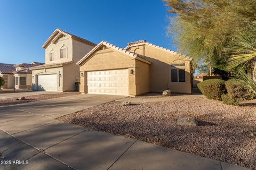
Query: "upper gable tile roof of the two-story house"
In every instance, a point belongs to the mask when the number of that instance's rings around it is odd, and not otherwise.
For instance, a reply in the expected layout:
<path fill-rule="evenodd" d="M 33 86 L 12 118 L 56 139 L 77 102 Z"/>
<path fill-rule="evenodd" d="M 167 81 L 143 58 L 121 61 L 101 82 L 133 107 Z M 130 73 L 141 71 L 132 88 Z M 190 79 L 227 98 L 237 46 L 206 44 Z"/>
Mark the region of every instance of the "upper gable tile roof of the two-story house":
<path fill-rule="evenodd" d="M 61 36 L 61 35 L 65 35 L 65 36 L 69 36 L 71 38 L 74 38 L 78 41 L 82 41 L 83 43 L 86 43 L 86 44 L 89 44 L 89 45 L 92 45 L 92 46 L 96 46 L 97 44 L 95 43 L 92 43 L 91 41 L 87 40 L 87 39 L 84 39 L 82 37 L 78 37 L 72 33 L 69 33 L 67 31 L 63 31 L 61 29 L 56 29 L 52 35 L 46 40 L 46 42 L 44 43 L 44 45 L 42 46 L 43 48 L 46 48 L 47 44 L 49 44 L 52 40 L 52 42 L 54 43 L 55 41 L 58 40 L 58 38 Z"/>

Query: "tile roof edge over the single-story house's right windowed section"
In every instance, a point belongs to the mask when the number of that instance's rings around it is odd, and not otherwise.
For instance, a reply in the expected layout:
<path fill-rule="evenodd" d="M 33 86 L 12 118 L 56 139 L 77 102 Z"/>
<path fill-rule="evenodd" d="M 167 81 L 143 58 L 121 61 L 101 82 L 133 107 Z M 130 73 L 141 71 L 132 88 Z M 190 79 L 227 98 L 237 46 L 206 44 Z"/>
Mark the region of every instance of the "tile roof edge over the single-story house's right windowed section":
<path fill-rule="evenodd" d="M 128 49 L 129 47 L 138 46 L 138 45 L 148 45 L 148 46 L 151 46 L 151 47 L 155 47 L 157 49 L 161 49 L 161 50 L 163 50 L 165 52 L 168 52 L 168 53 L 178 54 L 182 57 L 188 58 L 188 60 L 190 60 L 190 61 L 193 60 L 193 58 L 191 58 L 189 56 L 186 56 L 184 54 L 174 52 L 173 50 L 170 50 L 170 49 L 167 49 L 167 48 L 164 48 L 164 47 L 160 47 L 160 46 L 157 46 L 157 45 L 152 44 L 152 43 L 147 43 L 147 40 L 139 40 L 139 41 L 135 41 L 135 42 L 132 42 L 132 43 L 128 43 L 128 46 L 126 46 L 124 49 Z"/>

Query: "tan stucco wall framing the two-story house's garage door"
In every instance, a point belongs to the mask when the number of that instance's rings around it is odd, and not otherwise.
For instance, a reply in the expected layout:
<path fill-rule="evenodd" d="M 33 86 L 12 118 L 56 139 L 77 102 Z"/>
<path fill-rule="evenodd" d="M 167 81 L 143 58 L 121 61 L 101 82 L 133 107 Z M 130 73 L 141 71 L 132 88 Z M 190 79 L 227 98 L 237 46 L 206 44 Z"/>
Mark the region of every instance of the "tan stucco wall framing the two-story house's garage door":
<path fill-rule="evenodd" d="M 63 67 L 33 70 L 32 71 L 32 89 L 33 90 L 37 90 L 37 75 L 45 75 L 45 74 L 57 74 L 57 91 L 60 91 L 60 92 L 65 91 L 62 88 L 63 87 Z"/>

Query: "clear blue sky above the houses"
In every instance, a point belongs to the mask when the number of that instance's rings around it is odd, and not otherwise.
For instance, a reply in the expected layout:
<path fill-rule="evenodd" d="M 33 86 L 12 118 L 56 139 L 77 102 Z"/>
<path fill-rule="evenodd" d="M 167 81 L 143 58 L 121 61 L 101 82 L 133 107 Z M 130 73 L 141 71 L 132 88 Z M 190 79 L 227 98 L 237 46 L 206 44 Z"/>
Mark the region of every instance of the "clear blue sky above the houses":
<path fill-rule="evenodd" d="M 172 50 L 162 0 L 0 1 L 0 63 L 44 62 L 42 45 L 60 28 L 119 47 L 146 39 Z"/>

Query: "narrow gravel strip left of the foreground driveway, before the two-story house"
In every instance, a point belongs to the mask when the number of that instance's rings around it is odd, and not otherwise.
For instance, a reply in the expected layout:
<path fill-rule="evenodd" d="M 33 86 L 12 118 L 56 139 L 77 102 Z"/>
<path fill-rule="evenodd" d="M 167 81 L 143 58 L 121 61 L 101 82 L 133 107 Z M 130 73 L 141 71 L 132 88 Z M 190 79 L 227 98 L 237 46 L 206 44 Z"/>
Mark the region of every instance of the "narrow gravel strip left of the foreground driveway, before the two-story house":
<path fill-rule="evenodd" d="M 33 96 L 25 96 L 25 100 L 17 100 L 18 97 L 7 98 L 7 99 L 0 99 L 0 106 L 10 106 L 10 105 L 17 105 L 21 103 L 28 103 L 31 101 L 39 101 L 39 100 L 46 100 L 58 97 L 65 97 L 65 96 L 73 96 L 78 95 L 79 92 L 63 92 L 58 94 L 42 94 L 42 95 L 33 95 Z"/>

